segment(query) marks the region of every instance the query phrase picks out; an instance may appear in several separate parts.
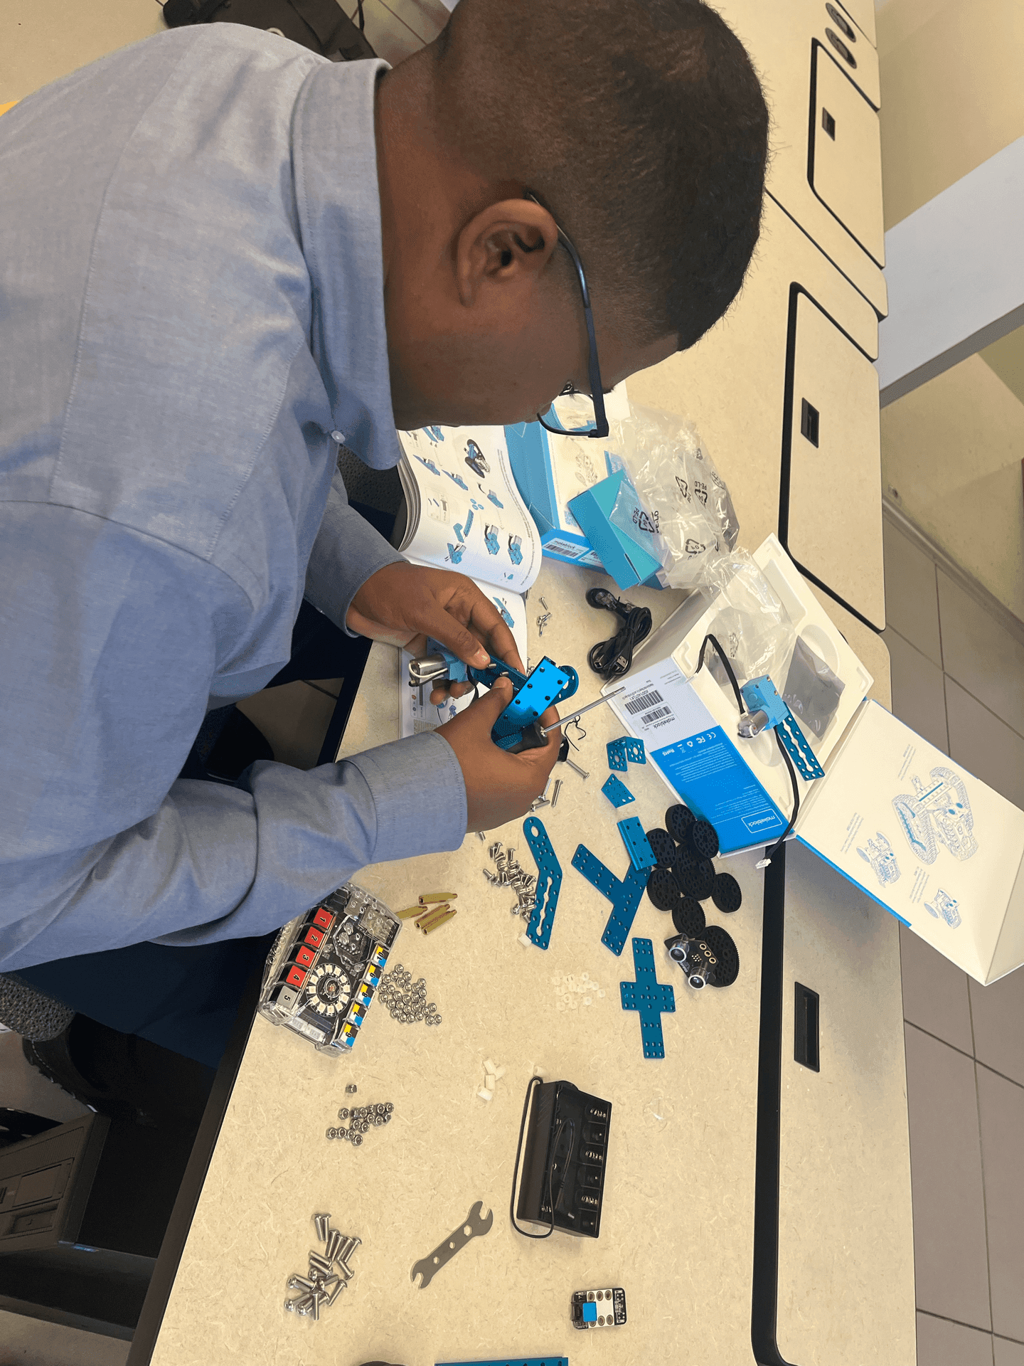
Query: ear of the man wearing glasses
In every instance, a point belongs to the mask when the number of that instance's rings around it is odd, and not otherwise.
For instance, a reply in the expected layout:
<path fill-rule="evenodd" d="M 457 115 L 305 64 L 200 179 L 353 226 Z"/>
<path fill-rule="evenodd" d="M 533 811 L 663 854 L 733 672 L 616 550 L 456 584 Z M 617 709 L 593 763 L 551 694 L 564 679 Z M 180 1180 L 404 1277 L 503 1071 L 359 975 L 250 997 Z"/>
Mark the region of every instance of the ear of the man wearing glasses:
<path fill-rule="evenodd" d="M 531 199 L 501 199 L 472 217 L 455 239 L 459 302 L 472 307 L 489 285 L 532 285 L 558 245 L 554 219 Z"/>

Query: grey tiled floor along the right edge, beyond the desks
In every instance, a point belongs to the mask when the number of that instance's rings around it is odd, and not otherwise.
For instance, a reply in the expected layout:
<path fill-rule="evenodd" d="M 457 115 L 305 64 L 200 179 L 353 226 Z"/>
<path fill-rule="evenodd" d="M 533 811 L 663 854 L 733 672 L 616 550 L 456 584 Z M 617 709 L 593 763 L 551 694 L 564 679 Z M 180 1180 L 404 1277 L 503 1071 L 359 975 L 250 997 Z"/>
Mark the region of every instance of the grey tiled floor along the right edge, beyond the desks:
<path fill-rule="evenodd" d="M 1024 641 L 885 522 L 893 712 L 1024 807 Z M 919 1366 L 1024 1366 L 1024 971 L 901 932 Z"/>

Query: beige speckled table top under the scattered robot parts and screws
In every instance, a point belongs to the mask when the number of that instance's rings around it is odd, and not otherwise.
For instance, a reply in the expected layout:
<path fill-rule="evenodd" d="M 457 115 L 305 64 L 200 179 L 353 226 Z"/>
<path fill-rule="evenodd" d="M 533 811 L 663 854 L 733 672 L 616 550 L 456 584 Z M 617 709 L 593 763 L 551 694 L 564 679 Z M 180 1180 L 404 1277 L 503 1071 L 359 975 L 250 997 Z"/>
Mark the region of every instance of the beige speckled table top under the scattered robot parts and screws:
<path fill-rule="evenodd" d="M 586 647 L 610 620 L 582 601 L 599 581 L 546 561 L 534 590 L 553 612 L 542 645 L 558 663 L 580 668 L 582 701 L 597 695 Z M 655 620 L 679 601 L 677 594 L 646 590 L 631 597 L 649 601 Z M 870 664 L 878 672 L 885 647 L 872 639 Z M 539 645 L 531 639 L 534 658 Z M 397 652 L 374 646 L 343 753 L 395 732 L 397 667 Z M 620 1007 L 618 984 L 635 977 L 629 944 L 614 958 L 599 943 L 610 907 L 569 866 L 579 841 L 617 876 L 628 863 L 616 829 L 624 813 L 598 791 L 608 769 L 605 742 L 618 728 L 603 708 L 587 721 L 578 758 L 588 780 L 563 768 L 557 807 L 539 813 L 564 872 L 546 952 L 519 941 L 524 926 L 509 914 L 511 896 L 487 885 L 481 872 L 486 846 L 468 835 L 455 854 L 378 865 L 358 878 L 396 908 L 441 884 L 457 889 L 455 921 L 430 937 L 407 925 L 392 953 L 392 964 L 401 962 L 426 978 L 441 1026 L 399 1024 L 377 1004 L 351 1059 L 335 1060 L 255 1020 L 152 1358 L 156 1366 L 355 1366 L 373 1359 L 430 1366 L 504 1361 L 512 1351 L 617 1366 L 752 1359 L 763 873 L 752 855 L 729 861 L 744 892 L 743 907 L 728 918 L 741 971 L 721 992 L 694 993 L 681 974 L 669 971 L 661 947 L 672 933 L 669 917 L 642 902 L 632 933 L 654 941 L 658 979 L 672 984 L 676 1004 L 674 1014 L 662 1016 L 665 1059 L 644 1060 L 639 1020 Z M 625 779 L 636 796 L 628 810 L 646 828 L 658 824 L 670 800 L 661 779 L 635 765 Z M 522 822 L 492 837 L 515 846 L 530 866 Z M 709 911 L 709 921 L 726 919 L 710 903 Z M 887 943 L 892 951 L 894 941 Z M 583 974 L 586 992 L 575 989 Z M 485 1059 L 507 1068 L 487 1104 L 477 1097 Z M 537 1068 L 613 1104 L 598 1240 L 556 1233 L 528 1242 L 511 1228 L 520 1111 Z M 347 1102 L 348 1082 L 358 1085 L 358 1101 L 395 1105 L 393 1121 L 371 1130 L 359 1149 L 325 1138 Z M 870 1096 L 862 1104 L 870 1111 Z M 410 1277 L 412 1264 L 477 1199 L 494 1210 L 490 1233 L 419 1290 Z M 329 1210 L 337 1227 L 363 1240 L 355 1280 L 317 1324 L 283 1307 L 288 1274 L 304 1270 L 315 1246 L 314 1210 Z M 909 1210 L 907 1220 L 909 1227 Z M 625 1287 L 629 1321 L 578 1333 L 568 1321 L 569 1295 L 601 1285 Z"/>

